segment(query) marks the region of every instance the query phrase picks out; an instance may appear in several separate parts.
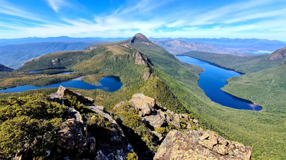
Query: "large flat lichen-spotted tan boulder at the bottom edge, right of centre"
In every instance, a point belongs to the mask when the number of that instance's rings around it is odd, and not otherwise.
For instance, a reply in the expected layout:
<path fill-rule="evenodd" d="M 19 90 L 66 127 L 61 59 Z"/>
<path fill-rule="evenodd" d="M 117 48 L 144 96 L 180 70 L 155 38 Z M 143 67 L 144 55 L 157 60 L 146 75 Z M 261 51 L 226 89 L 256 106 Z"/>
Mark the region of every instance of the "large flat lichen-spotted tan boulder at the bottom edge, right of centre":
<path fill-rule="evenodd" d="M 251 152 L 251 147 L 226 140 L 209 130 L 187 130 L 185 133 L 171 130 L 154 160 L 249 160 Z"/>

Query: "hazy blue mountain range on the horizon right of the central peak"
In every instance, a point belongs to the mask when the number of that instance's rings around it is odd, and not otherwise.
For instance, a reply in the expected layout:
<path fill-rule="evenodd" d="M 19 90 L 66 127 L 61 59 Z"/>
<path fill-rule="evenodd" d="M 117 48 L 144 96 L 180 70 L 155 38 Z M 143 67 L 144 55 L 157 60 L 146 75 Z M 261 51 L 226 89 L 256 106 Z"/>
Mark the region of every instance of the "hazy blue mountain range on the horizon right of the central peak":
<path fill-rule="evenodd" d="M 266 51 L 275 51 L 279 48 L 285 46 L 284 42 L 277 40 L 267 40 L 267 39 L 240 39 L 240 38 L 152 38 L 158 41 L 165 41 L 167 39 L 180 39 L 186 42 L 204 42 L 217 45 L 222 48 L 231 48 L 231 49 L 243 49 L 243 50 L 266 50 Z"/>

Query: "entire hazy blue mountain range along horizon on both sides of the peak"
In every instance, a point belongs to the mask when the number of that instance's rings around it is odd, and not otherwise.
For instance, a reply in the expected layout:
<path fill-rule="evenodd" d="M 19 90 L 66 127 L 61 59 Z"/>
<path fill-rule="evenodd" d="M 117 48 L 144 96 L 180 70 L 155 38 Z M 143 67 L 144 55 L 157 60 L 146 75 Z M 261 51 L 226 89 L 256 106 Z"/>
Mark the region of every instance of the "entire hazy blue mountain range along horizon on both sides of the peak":
<path fill-rule="evenodd" d="M 120 41 L 126 40 L 131 37 L 127 38 L 102 38 L 102 37 L 85 37 L 85 38 L 73 38 L 67 36 L 60 36 L 60 37 L 48 37 L 48 38 L 41 38 L 41 37 L 27 37 L 27 38 L 13 38 L 13 39 L 0 39 L 0 46 L 7 45 L 7 44 L 24 44 L 24 43 L 33 43 L 33 42 L 91 42 L 91 41 Z M 278 40 L 267 40 L 267 39 L 240 39 L 240 38 L 153 38 L 150 37 L 149 39 L 154 39 L 158 41 L 166 41 L 167 39 L 179 39 L 186 42 L 197 42 L 197 43 L 209 43 L 216 45 L 220 48 L 227 48 L 227 49 L 243 49 L 248 51 L 258 51 L 258 50 L 266 50 L 266 51 L 275 51 L 285 46 L 285 42 L 278 41 Z"/>

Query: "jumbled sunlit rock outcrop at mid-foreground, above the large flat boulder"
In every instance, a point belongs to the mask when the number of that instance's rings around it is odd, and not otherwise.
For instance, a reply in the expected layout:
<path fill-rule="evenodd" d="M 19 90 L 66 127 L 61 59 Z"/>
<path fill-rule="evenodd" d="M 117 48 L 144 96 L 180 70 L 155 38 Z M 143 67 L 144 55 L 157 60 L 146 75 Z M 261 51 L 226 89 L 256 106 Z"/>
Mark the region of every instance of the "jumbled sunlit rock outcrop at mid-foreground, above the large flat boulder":
<path fill-rule="evenodd" d="M 177 129 L 191 129 L 198 126 L 196 119 L 186 114 L 175 114 L 166 108 L 159 107 L 155 99 L 144 96 L 143 93 L 134 94 L 129 102 L 151 130 L 169 125 L 173 125 Z M 125 103 L 128 103 L 128 101 L 120 102 L 113 109 Z"/>

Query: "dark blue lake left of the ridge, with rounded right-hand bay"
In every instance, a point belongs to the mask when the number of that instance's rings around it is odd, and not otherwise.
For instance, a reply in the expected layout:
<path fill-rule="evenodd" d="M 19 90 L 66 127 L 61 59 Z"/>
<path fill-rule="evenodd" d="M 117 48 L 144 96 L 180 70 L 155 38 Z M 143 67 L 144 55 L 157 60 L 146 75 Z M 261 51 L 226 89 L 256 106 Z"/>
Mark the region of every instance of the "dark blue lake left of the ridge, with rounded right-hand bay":
<path fill-rule="evenodd" d="M 56 83 L 52 83 L 50 85 L 44 85 L 44 86 L 22 85 L 22 86 L 17 86 L 14 88 L 0 90 L 0 93 L 21 92 L 21 91 L 27 91 L 27 90 L 33 90 L 33 89 L 52 88 L 52 87 L 59 87 L 59 85 L 62 85 L 64 87 L 78 88 L 78 89 L 102 89 L 107 92 L 114 92 L 120 89 L 121 86 L 123 85 L 123 83 L 120 82 L 120 78 L 116 76 L 102 77 L 101 80 L 99 80 L 98 84 L 96 85 L 83 82 L 80 80 L 81 78 L 82 77 L 75 78 L 69 81 L 56 82 Z"/>

